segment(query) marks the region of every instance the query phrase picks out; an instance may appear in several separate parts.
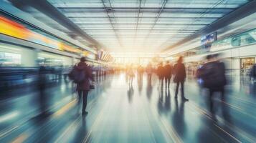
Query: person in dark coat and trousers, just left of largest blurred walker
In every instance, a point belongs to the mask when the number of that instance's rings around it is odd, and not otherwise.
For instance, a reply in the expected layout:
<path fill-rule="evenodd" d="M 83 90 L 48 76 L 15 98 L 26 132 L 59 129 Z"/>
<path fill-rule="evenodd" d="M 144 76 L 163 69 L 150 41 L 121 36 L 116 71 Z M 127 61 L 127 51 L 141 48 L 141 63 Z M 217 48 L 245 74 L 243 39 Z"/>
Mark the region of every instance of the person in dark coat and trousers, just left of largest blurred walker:
<path fill-rule="evenodd" d="M 181 84 L 181 99 L 186 102 L 189 99 L 184 97 L 184 82 L 186 79 L 186 69 L 183 62 L 183 57 L 180 56 L 177 63 L 174 65 L 174 82 L 176 83 L 175 98 L 178 96 L 179 84 Z"/>

